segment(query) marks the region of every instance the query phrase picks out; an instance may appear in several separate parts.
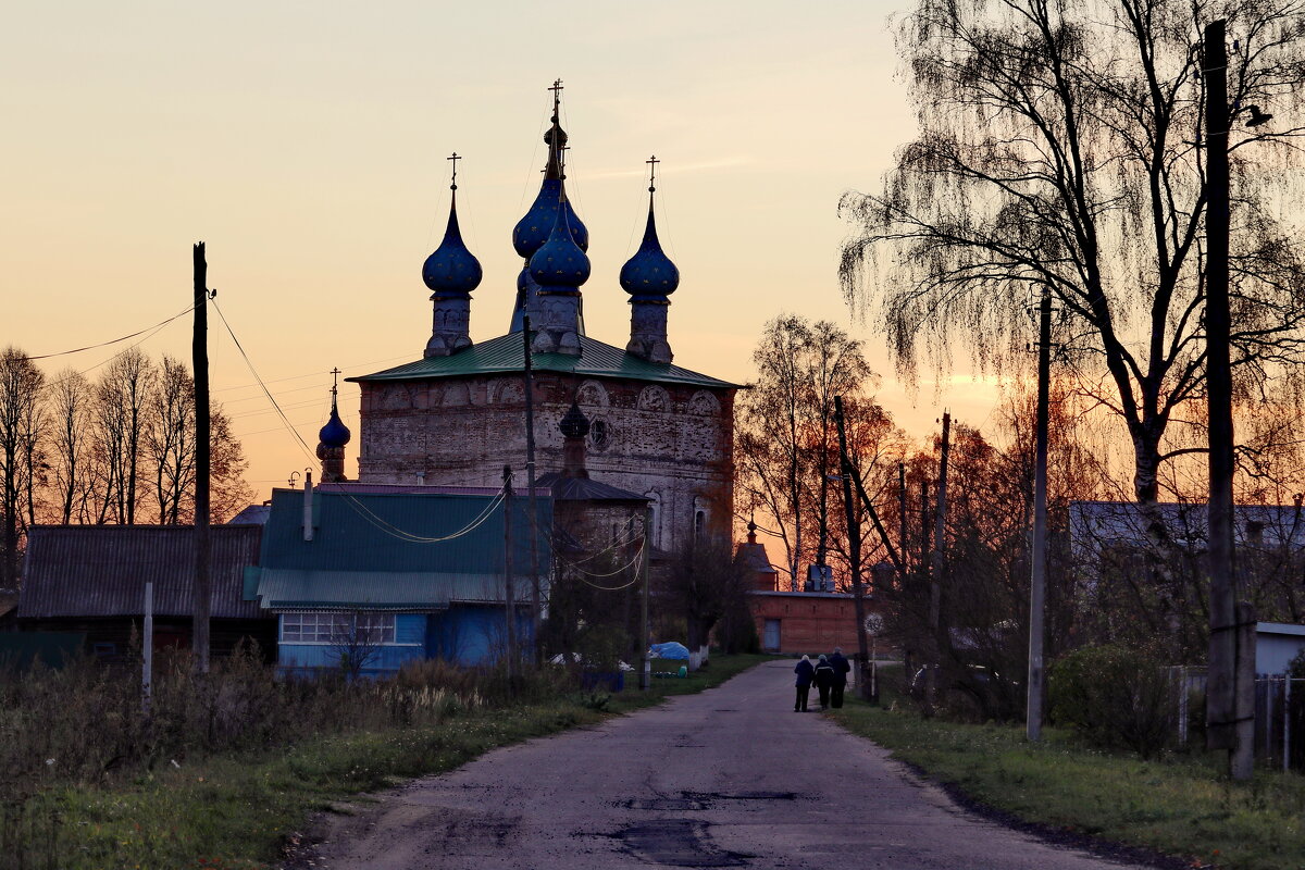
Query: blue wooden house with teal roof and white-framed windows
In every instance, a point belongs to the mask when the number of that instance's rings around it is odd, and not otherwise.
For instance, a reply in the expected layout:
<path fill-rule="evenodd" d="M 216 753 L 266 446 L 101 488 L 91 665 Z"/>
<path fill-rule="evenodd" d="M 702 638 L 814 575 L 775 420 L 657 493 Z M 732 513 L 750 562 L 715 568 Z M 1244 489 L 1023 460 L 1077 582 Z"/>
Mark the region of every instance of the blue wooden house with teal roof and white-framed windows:
<path fill-rule="evenodd" d="M 388 676 L 405 661 L 487 664 L 505 651 L 504 505 L 492 490 L 414 492 L 335 484 L 273 492 L 245 593 L 278 617 L 282 674 L 338 669 Z M 530 638 L 527 500 L 512 501 L 513 600 L 522 648 Z M 547 595 L 552 501 L 538 503 Z"/>

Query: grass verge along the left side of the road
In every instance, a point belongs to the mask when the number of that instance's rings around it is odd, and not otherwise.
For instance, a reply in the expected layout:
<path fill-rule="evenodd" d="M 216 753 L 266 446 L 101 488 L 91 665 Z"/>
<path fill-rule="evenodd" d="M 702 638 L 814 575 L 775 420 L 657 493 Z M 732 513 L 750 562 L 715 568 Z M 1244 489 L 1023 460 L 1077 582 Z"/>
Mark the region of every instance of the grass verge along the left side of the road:
<path fill-rule="evenodd" d="M 31 798 L 25 831 L 42 848 L 10 870 L 269 867 L 312 813 L 339 798 L 453 770 L 508 743 L 602 721 L 716 686 L 769 656 L 718 656 L 686 678 L 616 695 L 474 708 L 436 727 L 359 730 L 277 751 L 192 757 L 116 788 L 52 788 Z"/>

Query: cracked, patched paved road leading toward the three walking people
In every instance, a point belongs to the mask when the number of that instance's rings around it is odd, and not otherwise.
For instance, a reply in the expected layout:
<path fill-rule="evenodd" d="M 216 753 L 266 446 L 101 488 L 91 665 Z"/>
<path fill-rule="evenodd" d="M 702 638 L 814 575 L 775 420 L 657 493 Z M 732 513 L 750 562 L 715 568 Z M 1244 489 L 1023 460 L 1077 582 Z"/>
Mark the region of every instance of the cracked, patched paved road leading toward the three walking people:
<path fill-rule="evenodd" d="M 767 663 L 385 793 L 375 810 L 329 822 L 315 866 L 1122 866 L 976 818 L 874 743 L 793 713 L 791 667 Z"/>

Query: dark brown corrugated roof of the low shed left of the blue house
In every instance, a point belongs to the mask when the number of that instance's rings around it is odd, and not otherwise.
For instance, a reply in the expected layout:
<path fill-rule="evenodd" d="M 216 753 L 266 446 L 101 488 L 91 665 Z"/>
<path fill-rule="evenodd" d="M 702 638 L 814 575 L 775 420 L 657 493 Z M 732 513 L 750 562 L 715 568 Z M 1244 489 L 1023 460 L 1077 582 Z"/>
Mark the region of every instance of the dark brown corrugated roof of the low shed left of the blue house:
<path fill-rule="evenodd" d="M 257 620 L 245 601 L 247 565 L 257 565 L 258 526 L 214 526 L 211 616 Z M 141 616 L 146 580 L 157 616 L 191 616 L 192 526 L 33 526 L 27 532 L 20 618 Z"/>

